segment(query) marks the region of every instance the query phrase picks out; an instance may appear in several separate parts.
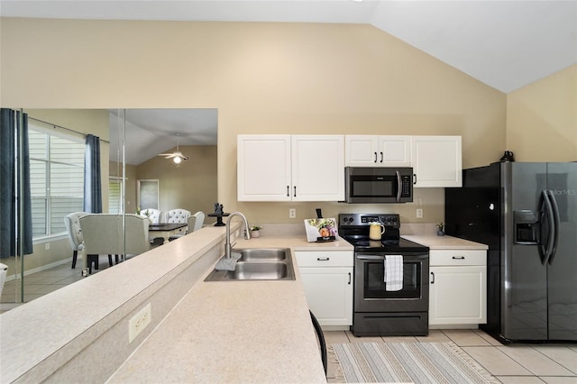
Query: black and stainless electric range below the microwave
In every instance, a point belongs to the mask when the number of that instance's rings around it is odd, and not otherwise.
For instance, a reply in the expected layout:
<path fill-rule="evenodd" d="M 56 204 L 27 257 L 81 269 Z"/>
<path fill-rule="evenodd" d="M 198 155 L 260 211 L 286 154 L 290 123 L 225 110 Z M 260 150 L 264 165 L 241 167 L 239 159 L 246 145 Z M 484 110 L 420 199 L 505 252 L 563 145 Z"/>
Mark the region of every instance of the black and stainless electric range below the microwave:
<path fill-rule="evenodd" d="M 384 226 L 380 240 L 371 223 Z M 428 334 L 429 249 L 400 237 L 399 215 L 341 214 L 339 235 L 354 246 L 353 325 L 356 336 Z M 385 280 L 389 256 L 402 257 L 400 286 Z M 398 268 L 398 267 L 397 267 Z"/>

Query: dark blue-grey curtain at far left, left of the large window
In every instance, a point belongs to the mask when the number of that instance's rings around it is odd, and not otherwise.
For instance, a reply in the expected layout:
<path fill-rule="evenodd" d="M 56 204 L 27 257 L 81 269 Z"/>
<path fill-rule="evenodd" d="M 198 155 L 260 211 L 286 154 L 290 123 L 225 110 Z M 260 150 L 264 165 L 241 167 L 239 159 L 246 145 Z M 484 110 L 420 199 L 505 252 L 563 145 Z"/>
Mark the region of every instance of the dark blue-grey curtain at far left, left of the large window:
<path fill-rule="evenodd" d="M 16 161 L 17 158 L 22 161 Z M 22 236 L 19 236 L 20 232 Z M 21 241 L 23 251 L 20 250 Z M 0 258 L 15 256 L 16 253 L 32 253 L 28 114 L 21 116 L 20 112 L 1 108 Z"/>

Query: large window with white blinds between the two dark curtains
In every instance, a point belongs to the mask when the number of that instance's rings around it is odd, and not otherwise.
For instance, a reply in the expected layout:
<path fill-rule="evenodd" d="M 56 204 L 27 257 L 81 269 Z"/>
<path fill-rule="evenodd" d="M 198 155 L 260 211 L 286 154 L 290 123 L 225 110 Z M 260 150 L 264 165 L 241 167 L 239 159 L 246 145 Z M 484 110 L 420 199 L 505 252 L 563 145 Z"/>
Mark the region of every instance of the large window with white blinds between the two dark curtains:
<path fill-rule="evenodd" d="M 29 121 L 32 238 L 66 231 L 64 216 L 84 208 L 82 139 Z"/>

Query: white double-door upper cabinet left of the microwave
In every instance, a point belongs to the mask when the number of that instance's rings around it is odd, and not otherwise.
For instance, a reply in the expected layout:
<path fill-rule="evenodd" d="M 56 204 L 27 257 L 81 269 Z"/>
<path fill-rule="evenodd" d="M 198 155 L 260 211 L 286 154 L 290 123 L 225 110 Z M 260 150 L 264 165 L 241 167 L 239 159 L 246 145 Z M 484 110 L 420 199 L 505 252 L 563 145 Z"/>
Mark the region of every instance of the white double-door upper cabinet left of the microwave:
<path fill-rule="evenodd" d="M 239 201 L 342 201 L 343 135 L 237 138 Z"/>

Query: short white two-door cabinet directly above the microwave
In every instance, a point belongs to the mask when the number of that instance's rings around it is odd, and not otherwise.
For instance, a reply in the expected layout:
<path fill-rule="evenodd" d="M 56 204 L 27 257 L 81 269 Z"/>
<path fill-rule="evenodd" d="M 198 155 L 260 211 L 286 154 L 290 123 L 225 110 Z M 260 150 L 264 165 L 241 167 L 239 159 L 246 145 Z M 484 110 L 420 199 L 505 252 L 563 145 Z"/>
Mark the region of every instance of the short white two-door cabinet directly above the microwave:
<path fill-rule="evenodd" d="M 346 135 L 347 167 L 410 167 L 410 136 Z"/>

